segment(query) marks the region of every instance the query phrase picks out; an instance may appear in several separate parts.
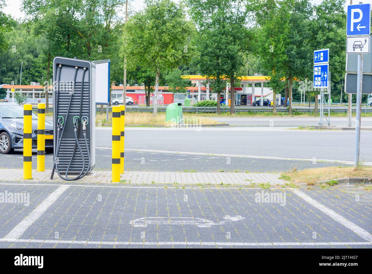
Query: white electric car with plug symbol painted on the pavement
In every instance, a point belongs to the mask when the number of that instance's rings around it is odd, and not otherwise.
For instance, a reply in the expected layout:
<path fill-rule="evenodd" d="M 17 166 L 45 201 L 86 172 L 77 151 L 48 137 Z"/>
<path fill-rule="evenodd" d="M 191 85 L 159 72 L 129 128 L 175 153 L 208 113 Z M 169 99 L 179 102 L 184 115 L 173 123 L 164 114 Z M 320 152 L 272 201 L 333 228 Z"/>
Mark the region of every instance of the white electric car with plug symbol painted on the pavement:
<path fill-rule="evenodd" d="M 149 224 L 184 224 L 184 225 L 196 225 L 197 227 L 211 227 L 218 224 L 224 224 L 227 222 L 236 222 L 244 220 L 244 217 L 239 215 L 232 217 L 225 215 L 224 220 L 218 223 L 214 223 L 211 220 L 202 218 L 191 218 L 191 217 L 146 217 L 131 220 L 129 223 L 134 227 L 147 227 Z"/>

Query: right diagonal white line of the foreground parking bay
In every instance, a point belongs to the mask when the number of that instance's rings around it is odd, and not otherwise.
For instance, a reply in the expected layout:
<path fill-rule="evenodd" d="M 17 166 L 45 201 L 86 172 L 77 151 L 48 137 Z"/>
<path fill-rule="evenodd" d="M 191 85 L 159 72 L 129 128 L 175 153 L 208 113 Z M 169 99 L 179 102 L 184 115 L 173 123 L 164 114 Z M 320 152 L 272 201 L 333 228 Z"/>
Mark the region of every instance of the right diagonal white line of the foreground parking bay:
<path fill-rule="evenodd" d="M 342 225 L 346 226 L 347 228 L 351 229 L 352 231 L 354 231 L 357 235 L 359 235 L 363 239 L 365 239 L 369 242 L 372 242 L 372 235 L 368 231 L 362 229 L 362 227 L 357 226 L 355 223 L 350 222 L 349 220 L 342 217 L 340 214 L 336 213 L 335 211 L 331 210 L 330 208 L 328 208 L 326 206 L 323 206 L 323 204 L 315 201 L 313 198 L 311 198 L 310 196 L 308 196 L 304 192 L 302 192 L 300 190 L 297 190 L 297 189 L 293 189 L 293 192 L 295 192 L 295 194 L 298 197 L 301 197 L 302 199 L 307 201 L 312 206 L 314 206 L 314 207 L 318 208 L 319 210 L 323 211 L 325 214 L 330 216 L 332 219 L 336 220 L 340 224 L 342 224 Z"/>

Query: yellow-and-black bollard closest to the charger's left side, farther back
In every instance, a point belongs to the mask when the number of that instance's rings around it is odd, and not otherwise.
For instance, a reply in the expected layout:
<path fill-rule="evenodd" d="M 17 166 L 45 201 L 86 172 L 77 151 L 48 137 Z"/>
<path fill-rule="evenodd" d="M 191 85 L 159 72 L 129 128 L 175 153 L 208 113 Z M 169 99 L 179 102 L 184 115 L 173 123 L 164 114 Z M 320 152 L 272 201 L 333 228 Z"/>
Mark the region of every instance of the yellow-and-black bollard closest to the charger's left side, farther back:
<path fill-rule="evenodd" d="M 45 103 L 38 103 L 38 164 L 37 171 L 45 171 Z"/>

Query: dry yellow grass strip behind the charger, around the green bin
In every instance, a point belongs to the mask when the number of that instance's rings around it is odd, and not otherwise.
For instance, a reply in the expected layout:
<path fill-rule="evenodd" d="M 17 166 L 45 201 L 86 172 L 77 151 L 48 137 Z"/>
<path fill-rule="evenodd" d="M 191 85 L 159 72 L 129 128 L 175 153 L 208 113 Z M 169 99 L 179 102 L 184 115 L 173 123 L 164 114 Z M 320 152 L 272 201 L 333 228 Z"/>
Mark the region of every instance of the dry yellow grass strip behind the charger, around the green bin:
<path fill-rule="evenodd" d="M 220 124 L 220 122 L 205 118 L 198 117 L 196 115 L 184 114 L 185 124 L 201 124 L 201 125 L 214 125 Z M 109 120 L 106 121 L 106 114 L 96 114 L 96 125 L 105 126 L 106 124 L 112 124 L 112 112 L 109 112 Z M 126 112 L 125 113 L 125 125 L 171 125 L 170 121 L 165 121 L 165 113 L 159 113 L 153 116 L 150 112 Z"/>

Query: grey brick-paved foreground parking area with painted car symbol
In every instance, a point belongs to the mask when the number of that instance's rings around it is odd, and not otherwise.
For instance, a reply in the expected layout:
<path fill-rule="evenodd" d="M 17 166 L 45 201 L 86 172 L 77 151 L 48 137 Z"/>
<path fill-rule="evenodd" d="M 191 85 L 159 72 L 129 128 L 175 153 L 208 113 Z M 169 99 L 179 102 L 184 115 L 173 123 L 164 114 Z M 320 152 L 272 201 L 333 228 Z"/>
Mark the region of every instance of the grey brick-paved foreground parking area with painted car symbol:
<path fill-rule="evenodd" d="M 372 247 L 372 193 L 358 186 L 1 182 L 5 192 L 29 205 L 0 203 L 0 248 Z"/>

